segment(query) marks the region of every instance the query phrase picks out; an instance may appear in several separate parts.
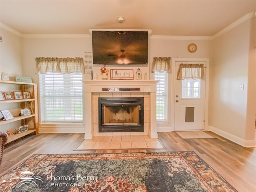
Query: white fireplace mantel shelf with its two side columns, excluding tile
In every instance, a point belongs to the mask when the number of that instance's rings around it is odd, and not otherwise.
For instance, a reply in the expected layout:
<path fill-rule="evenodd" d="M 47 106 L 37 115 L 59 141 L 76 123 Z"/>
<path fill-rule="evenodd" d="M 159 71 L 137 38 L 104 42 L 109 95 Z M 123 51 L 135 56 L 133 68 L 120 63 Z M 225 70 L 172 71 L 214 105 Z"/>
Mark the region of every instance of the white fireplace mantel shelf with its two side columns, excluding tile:
<path fill-rule="evenodd" d="M 100 93 L 148 93 L 150 97 L 149 136 L 157 138 L 156 132 L 156 84 L 159 80 L 82 80 L 84 84 L 85 139 L 94 136 L 93 94 Z M 110 89 L 111 88 L 111 89 Z"/>

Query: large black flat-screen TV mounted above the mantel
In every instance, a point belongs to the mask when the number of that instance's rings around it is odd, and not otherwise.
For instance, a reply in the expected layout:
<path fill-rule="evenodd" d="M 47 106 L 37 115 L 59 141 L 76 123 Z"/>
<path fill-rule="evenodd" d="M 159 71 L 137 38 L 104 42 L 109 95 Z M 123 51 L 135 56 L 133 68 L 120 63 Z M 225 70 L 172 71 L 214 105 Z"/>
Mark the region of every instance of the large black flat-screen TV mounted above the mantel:
<path fill-rule="evenodd" d="M 148 64 L 148 31 L 92 31 L 93 64 Z"/>

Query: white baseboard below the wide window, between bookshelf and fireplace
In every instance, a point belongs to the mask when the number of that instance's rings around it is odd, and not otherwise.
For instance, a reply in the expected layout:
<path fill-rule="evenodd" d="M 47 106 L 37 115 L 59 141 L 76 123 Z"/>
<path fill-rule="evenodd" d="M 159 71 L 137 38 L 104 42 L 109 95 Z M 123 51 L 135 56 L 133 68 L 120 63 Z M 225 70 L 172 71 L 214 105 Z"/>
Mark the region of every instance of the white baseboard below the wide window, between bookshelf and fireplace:
<path fill-rule="evenodd" d="M 84 123 L 39 124 L 38 133 L 84 133 Z"/>

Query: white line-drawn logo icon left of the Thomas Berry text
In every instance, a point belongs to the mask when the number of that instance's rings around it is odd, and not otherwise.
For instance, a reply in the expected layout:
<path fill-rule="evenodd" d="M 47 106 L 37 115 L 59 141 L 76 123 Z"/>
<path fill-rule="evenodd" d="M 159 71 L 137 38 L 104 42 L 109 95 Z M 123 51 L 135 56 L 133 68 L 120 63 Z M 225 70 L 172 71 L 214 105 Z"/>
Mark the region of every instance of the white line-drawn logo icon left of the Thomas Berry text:
<path fill-rule="evenodd" d="M 26 186 L 30 186 L 30 188 L 32 187 L 30 191 L 32 191 L 34 189 L 39 189 L 38 184 L 44 182 L 41 177 L 35 176 L 30 171 L 21 172 L 18 177 L 8 178 L 7 180 L 2 181 L 2 184 L 10 185 L 10 189 L 13 188 L 14 183 L 16 183 L 16 189 L 21 189 Z"/>

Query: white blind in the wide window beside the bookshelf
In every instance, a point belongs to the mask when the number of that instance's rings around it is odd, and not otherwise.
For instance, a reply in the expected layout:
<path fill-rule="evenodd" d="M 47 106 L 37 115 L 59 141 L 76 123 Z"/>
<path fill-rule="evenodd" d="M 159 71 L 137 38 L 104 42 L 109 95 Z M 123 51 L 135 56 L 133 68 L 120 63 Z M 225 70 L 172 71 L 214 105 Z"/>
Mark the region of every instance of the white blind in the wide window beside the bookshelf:
<path fill-rule="evenodd" d="M 42 122 L 81 122 L 82 74 L 40 74 Z"/>

